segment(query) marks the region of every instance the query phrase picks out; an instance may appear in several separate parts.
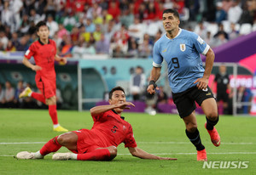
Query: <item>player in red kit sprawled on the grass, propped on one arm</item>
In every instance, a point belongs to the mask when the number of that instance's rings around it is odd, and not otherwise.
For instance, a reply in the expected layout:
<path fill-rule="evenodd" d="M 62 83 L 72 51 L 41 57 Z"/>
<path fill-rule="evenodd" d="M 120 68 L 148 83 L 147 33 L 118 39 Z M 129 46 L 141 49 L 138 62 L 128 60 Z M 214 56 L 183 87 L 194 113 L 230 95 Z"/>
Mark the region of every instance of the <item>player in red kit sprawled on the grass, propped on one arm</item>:
<path fill-rule="evenodd" d="M 109 93 L 109 104 L 90 109 L 94 125 L 89 129 L 63 133 L 49 140 L 36 153 L 22 151 L 18 159 L 43 159 L 44 155 L 56 152 L 65 146 L 73 153 L 56 153 L 53 160 L 111 161 L 117 155 L 117 146 L 121 143 L 129 149 L 131 155 L 142 159 L 177 160 L 175 158 L 151 155 L 137 148 L 131 124 L 125 121 L 121 113 L 130 109 L 126 102 L 125 91 L 121 87 L 113 88 Z"/>

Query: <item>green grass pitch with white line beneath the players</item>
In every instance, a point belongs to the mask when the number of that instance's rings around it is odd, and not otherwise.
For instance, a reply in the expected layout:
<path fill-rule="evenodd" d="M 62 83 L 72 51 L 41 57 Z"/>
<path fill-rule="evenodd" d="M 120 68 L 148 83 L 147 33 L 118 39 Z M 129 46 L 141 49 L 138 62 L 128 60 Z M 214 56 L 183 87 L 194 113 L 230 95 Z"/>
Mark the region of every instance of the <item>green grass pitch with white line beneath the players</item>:
<path fill-rule="evenodd" d="M 58 111 L 59 121 L 70 131 L 92 127 L 89 112 Z M 0 110 L 0 174 L 255 174 L 256 117 L 220 116 L 217 125 L 222 144 L 216 148 L 204 128 L 205 116 L 197 116 L 208 161 L 248 161 L 244 168 L 203 168 L 196 161 L 195 147 L 189 143 L 183 121 L 177 115 L 124 113 L 133 127 L 139 148 L 149 153 L 176 157 L 177 161 L 142 160 L 130 155 L 124 144 L 113 161 L 16 160 L 18 152 L 37 151 L 52 131 L 48 110 Z M 67 152 L 61 148 L 59 152 Z"/>

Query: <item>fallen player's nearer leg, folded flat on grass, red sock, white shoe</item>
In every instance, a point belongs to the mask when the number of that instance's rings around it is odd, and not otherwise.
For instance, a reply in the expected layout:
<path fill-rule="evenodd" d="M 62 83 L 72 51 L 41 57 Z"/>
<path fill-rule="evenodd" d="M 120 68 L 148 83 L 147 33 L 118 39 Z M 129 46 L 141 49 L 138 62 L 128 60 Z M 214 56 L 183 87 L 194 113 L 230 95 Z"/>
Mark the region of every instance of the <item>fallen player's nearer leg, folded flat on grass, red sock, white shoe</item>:
<path fill-rule="evenodd" d="M 78 160 L 78 161 L 111 161 L 117 155 L 117 148 L 115 146 L 109 146 L 107 148 L 97 148 L 84 154 L 74 153 L 56 153 L 52 156 L 53 160 L 66 161 L 66 160 Z"/>

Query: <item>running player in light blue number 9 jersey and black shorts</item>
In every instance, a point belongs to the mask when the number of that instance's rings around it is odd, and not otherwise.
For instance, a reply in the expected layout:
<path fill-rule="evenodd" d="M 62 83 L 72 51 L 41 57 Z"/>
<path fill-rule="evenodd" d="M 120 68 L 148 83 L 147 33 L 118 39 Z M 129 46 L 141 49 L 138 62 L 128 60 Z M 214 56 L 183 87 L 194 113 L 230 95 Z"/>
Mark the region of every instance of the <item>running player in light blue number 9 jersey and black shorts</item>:
<path fill-rule="evenodd" d="M 179 14 L 174 9 L 163 12 L 163 25 L 166 34 L 154 43 L 153 69 L 150 75 L 148 93 L 155 93 L 156 81 L 160 77 L 161 65 L 166 60 L 168 79 L 172 88 L 172 98 L 179 116 L 186 126 L 186 135 L 195 145 L 197 161 L 207 161 L 207 151 L 201 143 L 195 118 L 195 102 L 201 105 L 207 116 L 205 127 L 212 144 L 219 146 L 220 138 L 216 128 L 218 108 L 211 89 L 208 87 L 212 72 L 214 53 L 209 45 L 194 32 L 179 28 Z M 203 68 L 200 54 L 206 55 L 206 68 Z"/>

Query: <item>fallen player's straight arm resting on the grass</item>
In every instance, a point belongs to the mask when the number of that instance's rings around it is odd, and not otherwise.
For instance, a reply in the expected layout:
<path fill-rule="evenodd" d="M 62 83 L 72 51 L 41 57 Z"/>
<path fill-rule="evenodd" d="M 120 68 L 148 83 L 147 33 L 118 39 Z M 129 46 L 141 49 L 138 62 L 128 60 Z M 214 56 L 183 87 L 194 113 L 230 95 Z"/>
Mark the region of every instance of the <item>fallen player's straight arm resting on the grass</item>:
<path fill-rule="evenodd" d="M 147 153 L 146 151 L 139 149 L 137 147 L 135 147 L 135 148 L 128 147 L 128 149 L 129 149 L 131 155 L 136 156 L 141 159 L 172 160 L 172 161 L 177 160 L 176 158 L 160 157 L 157 155 L 151 155 L 151 154 Z"/>

